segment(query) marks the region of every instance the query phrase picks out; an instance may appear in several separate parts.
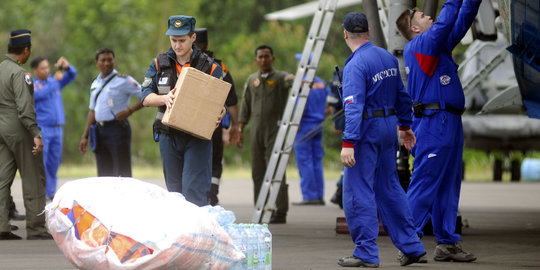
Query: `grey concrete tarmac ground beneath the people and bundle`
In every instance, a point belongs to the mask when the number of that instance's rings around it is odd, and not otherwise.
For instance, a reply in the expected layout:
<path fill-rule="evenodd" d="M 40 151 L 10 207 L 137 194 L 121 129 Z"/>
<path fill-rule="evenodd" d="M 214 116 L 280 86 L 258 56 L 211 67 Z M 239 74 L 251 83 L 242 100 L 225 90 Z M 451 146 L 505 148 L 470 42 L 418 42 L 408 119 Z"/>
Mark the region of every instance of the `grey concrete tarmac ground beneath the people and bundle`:
<path fill-rule="evenodd" d="M 62 185 L 69 180 L 60 180 Z M 145 180 L 164 186 L 164 180 Z M 290 202 L 301 200 L 298 180 L 289 182 Z M 335 232 L 336 218 L 344 216 L 330 203 L 336 181 L 326 181 L 325 206 L 290 205 L 287 224 L 271 224 L 273 269 L 343 269 L 337 259 L 354 249 L 349 235 Z M 253 187 L 249 179 L 224 179 L 220 203 L 232 210 L 237 222 L 249 223 L 253 215 Z M 19 211 L 24 211 L 21 182 L 12 193 Z M 435 262 L 433 236 L 422 239 L 429 255 L 427 264 L 414 269 L 540 269 L 540 183 L 464 182 L 460 212 L 463 248 L 478 256 L 472 263 Z M 16 234 L 26 238 L 24 221 L 14 221 Z M 388 236 L 377 239 L 380 268 L 404 269 L 396 260 L 397 249 Z M 54 241 L 0 241 L 0 269 L 75 269 Z"/>

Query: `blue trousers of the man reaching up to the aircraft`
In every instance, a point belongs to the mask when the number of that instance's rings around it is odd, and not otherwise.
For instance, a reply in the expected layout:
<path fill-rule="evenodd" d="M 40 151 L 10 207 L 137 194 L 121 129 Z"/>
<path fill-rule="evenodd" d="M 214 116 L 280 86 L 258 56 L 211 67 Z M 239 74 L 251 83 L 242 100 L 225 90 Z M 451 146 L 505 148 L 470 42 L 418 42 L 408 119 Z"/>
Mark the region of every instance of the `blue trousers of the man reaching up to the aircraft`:
<path fill-rule="evenodd" d="M 440 111 L 415 119 L 417 144 L 407 197 L 419 235 L 431 218 L 437 242 L 457 243 L 456 218 L 463 168 L 461 116 Z"/>

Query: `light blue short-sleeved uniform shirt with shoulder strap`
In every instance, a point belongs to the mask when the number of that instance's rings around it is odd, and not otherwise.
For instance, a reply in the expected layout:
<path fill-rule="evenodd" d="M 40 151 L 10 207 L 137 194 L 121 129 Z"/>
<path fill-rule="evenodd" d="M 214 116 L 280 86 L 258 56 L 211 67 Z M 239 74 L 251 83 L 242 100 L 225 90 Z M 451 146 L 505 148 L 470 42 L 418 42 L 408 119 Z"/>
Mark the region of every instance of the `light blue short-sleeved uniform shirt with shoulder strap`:
<path fill-rule="evenodd" d="M 113 74 L 117 75 L 105 85 L 96 100 L 99 89 Z M 118 74 L 116 69 L 106 78 L 101 78 L 100 73 L 92 82 L 90 90 L 89 108 L 95 111 L 97 122 L 114 120 L 117 113 L 127 109 L 131 96 L 141 98 L 141 85 L 129 75 Z"/>

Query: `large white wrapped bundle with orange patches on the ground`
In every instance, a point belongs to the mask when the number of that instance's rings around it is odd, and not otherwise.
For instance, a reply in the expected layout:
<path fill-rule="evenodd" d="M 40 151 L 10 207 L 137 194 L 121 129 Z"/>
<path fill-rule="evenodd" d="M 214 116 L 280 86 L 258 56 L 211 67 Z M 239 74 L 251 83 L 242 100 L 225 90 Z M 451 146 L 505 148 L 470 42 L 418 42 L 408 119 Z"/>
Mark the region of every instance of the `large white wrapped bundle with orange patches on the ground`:
<path fill-rule="evenodd" d="M 227 269 L 244 257 L 207 209 L 133 178 L 70 181 L 46 212 L 79 269 Z"/>

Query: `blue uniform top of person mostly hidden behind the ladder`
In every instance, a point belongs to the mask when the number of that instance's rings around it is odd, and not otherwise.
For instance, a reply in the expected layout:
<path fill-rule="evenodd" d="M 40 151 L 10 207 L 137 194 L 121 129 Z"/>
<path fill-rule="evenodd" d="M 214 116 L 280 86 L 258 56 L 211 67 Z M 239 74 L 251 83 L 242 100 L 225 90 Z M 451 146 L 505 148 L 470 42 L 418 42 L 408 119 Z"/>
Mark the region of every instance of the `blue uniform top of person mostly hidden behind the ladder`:
<path fill-rule="evenodd" d="M 326 83 L 321 78 L 315 76 L 301 122 L 321 123 L 324 121 L 326 96 L 329 92 L 330 89 L 326 86 Z"/>

